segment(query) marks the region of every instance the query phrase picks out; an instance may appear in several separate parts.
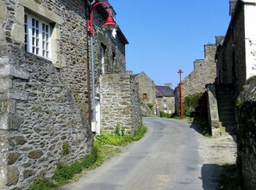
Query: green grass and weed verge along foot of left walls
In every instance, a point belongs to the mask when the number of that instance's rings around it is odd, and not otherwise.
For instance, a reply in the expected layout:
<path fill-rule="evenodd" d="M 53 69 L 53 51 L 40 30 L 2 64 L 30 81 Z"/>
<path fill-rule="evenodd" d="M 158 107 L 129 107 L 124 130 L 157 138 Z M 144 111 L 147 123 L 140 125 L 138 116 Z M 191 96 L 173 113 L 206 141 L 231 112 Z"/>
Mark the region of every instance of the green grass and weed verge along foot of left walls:
<path fill-rule="evenodd" d="M 57 164 L 57 169 L 54 171 L 53 179 L 45 179 L 40 177 L 36 179 L 28 190 L 53 190 L 54 187 L 59 187 L 70 181 L 76 181 L 84 173 L 91 169 L 96 169 L 110 157 L 122 150 L 124 145 L 143 138 L 147 132 L 147 126 L 140 126 L 134 135 L 120 135 L 119 133 L 102 133 L 97 136 L 97 140 L 93 144 L 91 154 L 85 156 L 81 162 L 73 162 L 72 165 L 63 163 Z"/>

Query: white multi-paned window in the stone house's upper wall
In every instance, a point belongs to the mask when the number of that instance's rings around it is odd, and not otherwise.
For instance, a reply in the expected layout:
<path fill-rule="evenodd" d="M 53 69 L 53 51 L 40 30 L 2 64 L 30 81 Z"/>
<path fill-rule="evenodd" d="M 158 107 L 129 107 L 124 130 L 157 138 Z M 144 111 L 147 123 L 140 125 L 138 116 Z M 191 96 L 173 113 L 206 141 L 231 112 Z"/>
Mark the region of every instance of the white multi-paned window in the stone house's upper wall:
<path fill-rule="evenodd" d="M 35 55 L 51 58 L 51 28 L 47 21 L 25 14 L 25 49 Z"/>

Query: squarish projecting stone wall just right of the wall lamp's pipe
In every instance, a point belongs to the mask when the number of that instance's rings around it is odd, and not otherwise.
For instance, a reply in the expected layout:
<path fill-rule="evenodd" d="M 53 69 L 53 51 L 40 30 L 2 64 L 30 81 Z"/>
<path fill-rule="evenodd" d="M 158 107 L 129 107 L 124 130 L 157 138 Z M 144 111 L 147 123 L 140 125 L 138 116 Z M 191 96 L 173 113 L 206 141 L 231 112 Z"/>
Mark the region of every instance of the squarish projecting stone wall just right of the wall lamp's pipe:
<path fill-rule="evenodd" d="M 113 132 L 119 124 L 126 132 L 134 132 L 141 124 L 141 116 L 137 84 L 131 72 L 103 75 L 100 90 L 103 130 Z"/>

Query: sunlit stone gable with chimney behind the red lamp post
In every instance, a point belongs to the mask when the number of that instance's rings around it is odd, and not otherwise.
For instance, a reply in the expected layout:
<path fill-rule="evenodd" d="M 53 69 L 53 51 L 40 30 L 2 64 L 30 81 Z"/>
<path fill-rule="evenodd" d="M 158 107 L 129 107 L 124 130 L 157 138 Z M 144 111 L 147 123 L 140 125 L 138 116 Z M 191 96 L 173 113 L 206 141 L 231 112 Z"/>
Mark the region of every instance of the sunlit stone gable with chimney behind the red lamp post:
<path fill-rule="evenodd" d="M 216 46 L 209 44 L 204 46 L 204 59 L 194 62 L 194 70 L 183 80 L 183 97 L 205 91 L 207 83 L 214 83 L 216 77 L 215 65 Z"/>

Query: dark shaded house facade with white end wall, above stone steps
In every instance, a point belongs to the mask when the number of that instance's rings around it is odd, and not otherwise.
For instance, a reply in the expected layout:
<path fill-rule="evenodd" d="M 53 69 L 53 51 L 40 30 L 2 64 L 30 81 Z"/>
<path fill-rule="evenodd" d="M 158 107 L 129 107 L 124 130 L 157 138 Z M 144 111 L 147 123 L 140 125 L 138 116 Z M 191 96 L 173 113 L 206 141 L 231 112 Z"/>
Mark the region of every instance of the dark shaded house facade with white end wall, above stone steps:
<path fill-rule="evenodd" d="M 255 1 L 231 1 L 231 21 L 216 52 L 218 84 L 231 85 L 237 94 L 256 74 Z"/>

